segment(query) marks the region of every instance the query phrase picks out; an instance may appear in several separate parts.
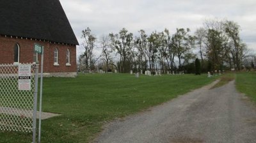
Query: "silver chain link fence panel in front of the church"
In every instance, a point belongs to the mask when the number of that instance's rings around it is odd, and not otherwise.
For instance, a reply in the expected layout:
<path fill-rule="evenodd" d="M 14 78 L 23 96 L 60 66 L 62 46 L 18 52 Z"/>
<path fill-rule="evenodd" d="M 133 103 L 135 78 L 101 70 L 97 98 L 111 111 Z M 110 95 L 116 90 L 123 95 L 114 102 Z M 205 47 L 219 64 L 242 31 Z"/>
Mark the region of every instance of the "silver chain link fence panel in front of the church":
<path fill-rule="evenodd" d="M 0 64 L 0 130 L 33 131 L 35 64 L 31 66 L 31 87 L 19 89 L 19 66 Z"/>

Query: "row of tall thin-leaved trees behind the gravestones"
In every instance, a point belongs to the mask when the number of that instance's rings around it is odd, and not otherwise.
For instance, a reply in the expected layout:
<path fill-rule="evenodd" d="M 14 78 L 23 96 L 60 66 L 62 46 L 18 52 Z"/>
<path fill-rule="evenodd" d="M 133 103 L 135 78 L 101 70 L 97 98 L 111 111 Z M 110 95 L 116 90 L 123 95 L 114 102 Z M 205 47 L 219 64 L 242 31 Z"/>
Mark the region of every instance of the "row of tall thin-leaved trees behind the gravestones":
<path fill-rule="evenodd" d="M 195 33 L 189 28 L 177 28 L 173 34 L 168 29 L 146 34 L 141 29 L 134 36 L 123 28 L 119 33 L 109 33 L 97 40 L 87 27 L 82 31 L 84 52 L 79 56 L 79 70 L 194 73 L 195 59 L 198 58 L 202 72 L 239 71 L 245 67 L 246 57 L 253 57 L 241 40 L 240 31 L 241 27 L 234 21 L 206 20 Z M 99 49 L 101 54 L 96 57 L 93 51 Z"/>

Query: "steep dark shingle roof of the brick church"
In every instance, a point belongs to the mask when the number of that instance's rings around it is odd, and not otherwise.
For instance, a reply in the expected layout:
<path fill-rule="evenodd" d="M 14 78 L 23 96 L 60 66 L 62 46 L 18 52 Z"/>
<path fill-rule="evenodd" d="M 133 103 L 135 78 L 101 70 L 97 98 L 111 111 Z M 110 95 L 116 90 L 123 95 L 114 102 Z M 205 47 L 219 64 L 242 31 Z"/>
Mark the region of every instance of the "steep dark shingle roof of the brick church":
<path fill-rule="evenodd" d="M 0 34 L 78 45 L 59 0 L 0 0 Z"/>

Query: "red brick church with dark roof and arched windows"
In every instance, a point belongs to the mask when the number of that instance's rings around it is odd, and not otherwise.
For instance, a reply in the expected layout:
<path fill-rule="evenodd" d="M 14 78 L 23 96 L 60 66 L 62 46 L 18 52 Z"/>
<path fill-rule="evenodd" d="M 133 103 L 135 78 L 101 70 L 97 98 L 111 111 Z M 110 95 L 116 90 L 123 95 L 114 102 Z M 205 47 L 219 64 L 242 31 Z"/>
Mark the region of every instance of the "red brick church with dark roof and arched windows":
<path fill-rule="evenodd" d="M 44 76 L 75 77 L 78 41 L 59 0 L 0 0 L 0 64 L 33 63 L 44 46 Z"/>

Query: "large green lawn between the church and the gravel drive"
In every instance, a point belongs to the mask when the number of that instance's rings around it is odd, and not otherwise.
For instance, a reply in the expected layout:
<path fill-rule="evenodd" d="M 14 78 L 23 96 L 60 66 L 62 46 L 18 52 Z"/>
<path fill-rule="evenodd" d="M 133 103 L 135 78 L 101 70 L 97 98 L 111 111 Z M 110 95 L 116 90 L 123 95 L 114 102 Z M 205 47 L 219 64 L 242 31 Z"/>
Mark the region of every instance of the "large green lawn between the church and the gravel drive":
<path fill-rule="evenodd" d="M 136 78 L 120 73 L 45 78 L 43 110 L 62 116 L 42 121 L 42 142 L 89 142 L 106 122 L 166 102 L 216 78 L 207 75 Z M 31 137 L 31 133 L 0 132 L 0 142 L 31 142 Z"/>

